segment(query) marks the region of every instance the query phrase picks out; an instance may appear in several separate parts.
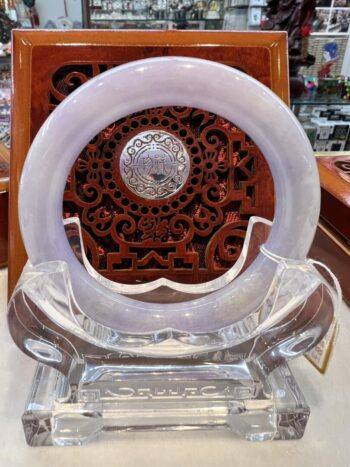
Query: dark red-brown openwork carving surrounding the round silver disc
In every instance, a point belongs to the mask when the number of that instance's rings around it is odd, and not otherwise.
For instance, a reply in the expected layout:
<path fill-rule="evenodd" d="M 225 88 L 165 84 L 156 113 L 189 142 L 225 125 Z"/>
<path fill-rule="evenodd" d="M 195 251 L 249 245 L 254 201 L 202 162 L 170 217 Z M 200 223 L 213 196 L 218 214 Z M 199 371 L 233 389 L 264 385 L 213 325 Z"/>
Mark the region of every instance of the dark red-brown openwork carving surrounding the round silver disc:
<path fill-rule="evenodd" d="M 60 68 L 52 79 L 51 110 L 111 66 Z M 149 196 L 142 196 L 134 174 L 121 172 L 132 164 L 121 159 L 123 151 L 145 131 L 169 134 L 188 155 L 181 169 L 186 176 L 176 178 L 178 169 L 171 169 L 178 184 L 159 196 L 151 182 L 144 187 Z M 170 165 L 165 171 L 157 166 L 152 172 L 143 161 L 138 173 L 148 180 L 151 173 L 169 173 Z M 238 259 L 251 215 L 272 218 L 272 178 L 256 145 L 233 123 L 201 109 L 154 108 L 111 123 L 90 141 L 67 180 L 63 211 L 80 217 L 89 261 L 105 277 L 203 282 Z"/>

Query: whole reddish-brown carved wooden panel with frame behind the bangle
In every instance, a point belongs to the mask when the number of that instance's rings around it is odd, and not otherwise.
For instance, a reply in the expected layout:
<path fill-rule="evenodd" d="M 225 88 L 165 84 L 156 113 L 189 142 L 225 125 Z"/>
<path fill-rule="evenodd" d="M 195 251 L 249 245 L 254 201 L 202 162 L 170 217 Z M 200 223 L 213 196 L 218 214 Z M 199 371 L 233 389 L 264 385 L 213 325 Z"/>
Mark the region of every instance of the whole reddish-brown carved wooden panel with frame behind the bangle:
<path fill-rule="evenodd" d="M 283 33 L 16 32 L 10 201 L 16 260 L 10 265 L 10 290 L 25 260 L 17 183 L 41 124 L 86 80 L 121 63 L 159 55 L 240 68 L 288 100 Z M 190 158 L 184 185 L 156 201 L 135 194 L 118 170 L 123 147 L 145 129 L 178 138 Z M 71 214 L 80 216 L 88 258 L 101 274 L 130 283 L 160 276 L 201 282 L 236 261 L 251 215 L 272 217 L 272 179 L 258 148 L 234 122 L 201 109 L 151 109 L 111 122 L 82 151 L 67 181 L 64 215 Z"/>

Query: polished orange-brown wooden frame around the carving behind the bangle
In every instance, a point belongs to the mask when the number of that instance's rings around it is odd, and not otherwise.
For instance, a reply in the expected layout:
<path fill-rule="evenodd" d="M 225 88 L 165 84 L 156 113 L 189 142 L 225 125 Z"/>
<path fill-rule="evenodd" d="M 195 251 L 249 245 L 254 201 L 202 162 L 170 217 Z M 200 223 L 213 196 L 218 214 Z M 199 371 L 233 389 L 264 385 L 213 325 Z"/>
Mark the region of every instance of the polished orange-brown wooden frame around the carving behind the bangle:
<path fill-rule="evenodd" d="M 63 66 L 89 64 L 94 72 L 161 55 L 194 56 L 242 69 L 288 103 L 284 33 L 206 31 L 15 31 L 12 102 L 9 291 L 26 261 L 17 213 L 18 183 L 26 153 L 57 102 L 50 101 L 53 76 Z M 101 67 L 99 72 L 101 71 Z M 269 203 L 273 202 L 270 194 Z M 45 232 L 43 232 L 45 235 Z"/>

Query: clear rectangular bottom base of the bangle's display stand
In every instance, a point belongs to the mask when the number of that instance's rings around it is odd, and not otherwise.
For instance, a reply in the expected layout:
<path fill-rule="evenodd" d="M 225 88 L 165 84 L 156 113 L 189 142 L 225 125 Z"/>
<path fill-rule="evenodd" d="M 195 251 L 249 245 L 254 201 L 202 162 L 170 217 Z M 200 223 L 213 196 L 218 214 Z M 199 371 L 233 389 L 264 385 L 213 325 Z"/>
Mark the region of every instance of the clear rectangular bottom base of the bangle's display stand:
<path fill-rule="evenodd" d="M 309 407 L 289 367 L 90 361 L 68 379 L 38 364 L 23 414 L 31 446 L 81 445 L 105 432 L 226 429 L 250 441 L 298 439 Z"/>

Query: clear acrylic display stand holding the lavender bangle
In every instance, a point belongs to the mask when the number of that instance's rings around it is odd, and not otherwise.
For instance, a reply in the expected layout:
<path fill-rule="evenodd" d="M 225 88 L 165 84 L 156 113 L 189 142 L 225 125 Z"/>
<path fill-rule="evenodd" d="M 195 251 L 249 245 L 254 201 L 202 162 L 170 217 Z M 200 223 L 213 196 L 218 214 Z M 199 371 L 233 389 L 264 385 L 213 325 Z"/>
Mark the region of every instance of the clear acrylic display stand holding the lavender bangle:
<path fill-rule="evenodd" d="M 240 259 L 204 289 L 160 280 L 119 290 L 161 303 L 202 289 L 220 293 L 260 251 L 275 264 L 266 296 L 249 316 L 207 333 L 135 336 L 108 328 L 77 304 L 65 262 L 28 263 L 9 303 L 14 341 L 39 362 L 23 414 L 28 444 L 80 445 L 110 431 L 165 429 L 300 438 L 309 408 L 287 362 L 325 336 L 340 297 L 312 260 L 266 250 L 270 226 L 251 218 Z M 84 255 L 79 221 L 65 227 L 82 264 L 103 282 Z"/>

